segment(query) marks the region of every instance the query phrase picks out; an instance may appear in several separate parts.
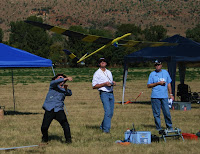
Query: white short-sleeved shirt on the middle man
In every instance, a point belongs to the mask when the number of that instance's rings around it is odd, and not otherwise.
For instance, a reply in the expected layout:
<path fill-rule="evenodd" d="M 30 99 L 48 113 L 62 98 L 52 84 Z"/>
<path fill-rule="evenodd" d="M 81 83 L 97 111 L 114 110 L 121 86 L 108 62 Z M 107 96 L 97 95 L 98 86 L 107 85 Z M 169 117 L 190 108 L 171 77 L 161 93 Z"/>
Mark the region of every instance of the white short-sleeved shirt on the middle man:
<path fill-rule="evenodd" d="M 104 82 L 113 82 L 113 77 L 112 73 L 109 70 L 105 70 L 103 72 L 100 68 L 94 73 L 93 79 L 92 79 L 92 86 L 94 87 L 97 84 L 102 84 Z M 101 87 L 98 89 L 99 91 L 106 91 L 106 92 L 112 92 L 113 91 L 113 86 L 111 87 Z"/>

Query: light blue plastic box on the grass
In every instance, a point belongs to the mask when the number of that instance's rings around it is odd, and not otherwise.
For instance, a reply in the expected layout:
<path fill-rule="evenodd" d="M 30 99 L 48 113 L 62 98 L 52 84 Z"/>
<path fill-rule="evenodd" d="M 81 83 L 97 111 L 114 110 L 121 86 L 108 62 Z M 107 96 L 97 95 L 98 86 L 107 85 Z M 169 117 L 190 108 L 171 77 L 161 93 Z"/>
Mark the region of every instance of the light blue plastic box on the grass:
<path fill-rule="evenodd" d="M 130 140 L 131 143 L 135 144 L 150 144 L 151 143 L 151 132 L 149 131 L 135 131 L 125 132 L 125 140 Z"/>

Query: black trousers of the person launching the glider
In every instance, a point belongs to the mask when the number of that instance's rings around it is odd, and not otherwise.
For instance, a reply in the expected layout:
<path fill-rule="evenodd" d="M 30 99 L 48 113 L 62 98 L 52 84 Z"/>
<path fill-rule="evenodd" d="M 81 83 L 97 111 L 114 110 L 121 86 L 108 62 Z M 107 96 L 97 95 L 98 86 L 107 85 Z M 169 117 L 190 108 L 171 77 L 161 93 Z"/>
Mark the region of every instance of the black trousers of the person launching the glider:
<path fill-rule="evenodd" d="M 70 142 L 71 141 L 71 132 L 70 132 L 69 123 L 67 121 L 67 117 L 65 115 L 64 110 L 54 112 L 53 109 L 51 111 L 45 110 L 42 127 L 41 127 L 41 131 L 42 131 L 42 135 L 43 135 L 42 141 L 44 141 L 44 142 L 48 141 L 48 129 L 49 129 L 49 126 L 53 119 L 57 120 L 60 123 L 60 125 L 63 128 L 66 141 Z"/>

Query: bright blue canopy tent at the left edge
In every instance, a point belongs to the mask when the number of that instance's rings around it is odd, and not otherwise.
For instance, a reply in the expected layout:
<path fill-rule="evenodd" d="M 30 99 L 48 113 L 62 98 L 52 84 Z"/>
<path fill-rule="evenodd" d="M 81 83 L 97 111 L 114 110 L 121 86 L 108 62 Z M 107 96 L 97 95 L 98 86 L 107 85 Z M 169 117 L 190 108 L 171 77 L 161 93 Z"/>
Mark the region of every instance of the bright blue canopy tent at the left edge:
<path fill-rule="evenodd" d="M 29 52 L 10 47 L 0 43 L 0 68 L 20 68 L 20 67 L 51 67 L 52 61 L 45 59 Z M 14 80 L 12 71 L 12 85 L 13 85 L 13 101 L 15 110 L 15 97 L 14 97 Z"/>

